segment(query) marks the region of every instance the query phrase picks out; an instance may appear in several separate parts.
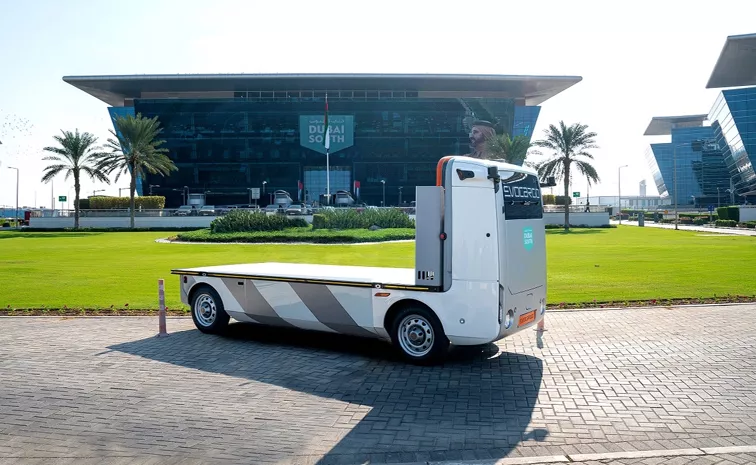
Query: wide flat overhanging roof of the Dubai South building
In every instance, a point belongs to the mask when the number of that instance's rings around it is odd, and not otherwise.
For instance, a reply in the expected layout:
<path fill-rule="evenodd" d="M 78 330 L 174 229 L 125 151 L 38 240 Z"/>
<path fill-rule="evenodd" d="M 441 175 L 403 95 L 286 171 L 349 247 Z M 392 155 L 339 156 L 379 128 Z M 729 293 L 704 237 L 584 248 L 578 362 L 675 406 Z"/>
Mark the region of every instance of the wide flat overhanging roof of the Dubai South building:
<path fill-rule="evenodd" d="M 143 92 L 234 92 L 246 90 L 415 90 L 449 96 L 497 93 L 539 105 L 577 84 L 579 76 L 481 74 L 170 74 L 64 76 L 63 80 L 98 99 L 123 106 Z"/>

